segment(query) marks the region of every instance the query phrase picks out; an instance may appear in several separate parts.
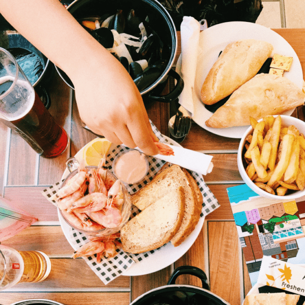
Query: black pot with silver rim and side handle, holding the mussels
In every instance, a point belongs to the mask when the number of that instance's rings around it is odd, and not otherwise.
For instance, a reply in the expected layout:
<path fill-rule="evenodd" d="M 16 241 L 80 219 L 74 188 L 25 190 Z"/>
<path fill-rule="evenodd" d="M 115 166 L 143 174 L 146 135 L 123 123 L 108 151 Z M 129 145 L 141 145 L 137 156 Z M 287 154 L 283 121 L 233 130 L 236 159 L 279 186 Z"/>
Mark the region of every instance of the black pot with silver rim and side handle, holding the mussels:
<path fill-rule="evenodd" d="M 149 86 L 140 90 L 143 100 L 171 102 L 178 98 L 184 87 L 182 78 L 172 69 L 172 65 L 177 51 L 177 33 L 174 22 L 167 10 L 156 0 L 75 0 L 68 6 L 67 10 L 76 18 L 81 19 L 89 16 L 102 16 L 104 13 L 114 15 L 118 9 L 130 11 L 134 9 L 143 18 L 148 16 L 149 25 L 158 34 L 163 44 L 166 45 L 167 52 L 164 59 L 168 60 L 160 77 Z M 60 77 L 74 89 L 73 83 L 69 77 L 56 67 Z M 165 87 L 168 76 L 176 79 L 176 85 L 173 90 L 161 96 Z"/>

